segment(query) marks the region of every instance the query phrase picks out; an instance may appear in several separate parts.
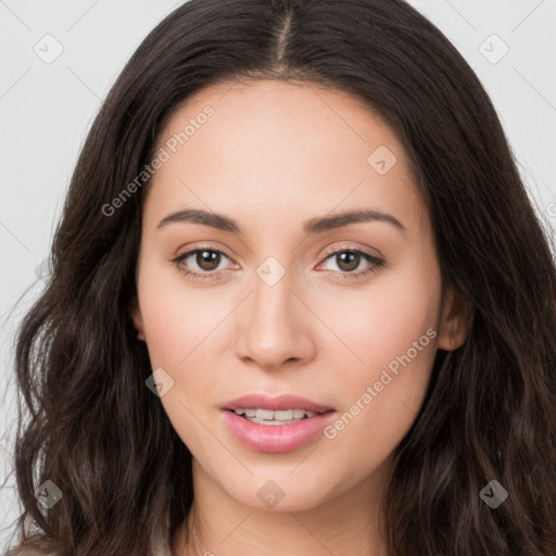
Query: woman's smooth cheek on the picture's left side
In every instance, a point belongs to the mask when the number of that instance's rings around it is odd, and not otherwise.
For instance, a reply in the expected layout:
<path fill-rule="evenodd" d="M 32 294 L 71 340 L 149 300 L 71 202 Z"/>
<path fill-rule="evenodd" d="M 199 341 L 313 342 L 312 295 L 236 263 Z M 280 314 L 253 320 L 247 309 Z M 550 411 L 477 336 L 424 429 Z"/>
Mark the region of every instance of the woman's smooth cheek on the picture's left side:
<path fill-rule="evenodd" d="M 217 405 L 215 391 L 226 391 L 228 378 L 216 354 L 228 346 L 223 320 L 233 300 L 222 290 L 216 301 L 210 288 L 187 285 L 179 270 L 164 262 L 144 261 L 138 289 L 151 366 L 173 378 L 173 388 L 161 402 L 178 434 L 194 445 L 198 429 L 203 432 L 194 416 L 211 402 Z"/>

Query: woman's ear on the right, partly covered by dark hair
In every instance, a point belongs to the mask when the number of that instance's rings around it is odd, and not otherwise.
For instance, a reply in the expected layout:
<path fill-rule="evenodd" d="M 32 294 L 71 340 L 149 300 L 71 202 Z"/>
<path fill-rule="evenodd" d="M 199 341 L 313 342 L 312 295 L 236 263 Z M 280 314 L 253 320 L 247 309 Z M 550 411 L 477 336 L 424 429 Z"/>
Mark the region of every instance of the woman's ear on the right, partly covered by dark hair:
<path fill-rule="evenodd" d="M 460 348 L 469 334 L 473 312 L 462 293 L 448 286 L 442 300 L 442 314 L 439 327 L 438 348 L 454 351 Z"/>

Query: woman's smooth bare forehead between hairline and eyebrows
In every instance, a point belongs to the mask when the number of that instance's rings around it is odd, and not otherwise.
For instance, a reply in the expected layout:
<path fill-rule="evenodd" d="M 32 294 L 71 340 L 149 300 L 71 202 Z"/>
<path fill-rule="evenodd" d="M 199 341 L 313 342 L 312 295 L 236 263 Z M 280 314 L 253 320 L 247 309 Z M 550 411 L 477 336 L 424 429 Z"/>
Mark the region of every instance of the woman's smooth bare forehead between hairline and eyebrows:
<path fill-rule="evenodd" d="M 279 227 L 280 218 L 336 207 L 406 219 L 422 210 L 392 129 L 358 99 L 313 83 L 202 89 L 174 112 L 157 148 L 168 154 L 150 186 L 150 212 L 159 214 L 194 204 L 239 220 L 274 214 Z"/>

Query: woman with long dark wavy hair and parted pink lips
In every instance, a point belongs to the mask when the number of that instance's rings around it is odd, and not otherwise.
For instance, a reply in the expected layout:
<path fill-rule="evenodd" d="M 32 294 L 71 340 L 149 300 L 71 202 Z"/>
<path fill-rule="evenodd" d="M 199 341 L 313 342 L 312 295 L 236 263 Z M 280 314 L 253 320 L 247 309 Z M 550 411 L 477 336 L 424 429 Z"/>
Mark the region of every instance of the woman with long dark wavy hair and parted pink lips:
<path fill-rule="evenodd" d="M 554 260 L 478 78 L 402 0 L 178 8 L 51 260 L 15 554 L 556 554 Z"/>

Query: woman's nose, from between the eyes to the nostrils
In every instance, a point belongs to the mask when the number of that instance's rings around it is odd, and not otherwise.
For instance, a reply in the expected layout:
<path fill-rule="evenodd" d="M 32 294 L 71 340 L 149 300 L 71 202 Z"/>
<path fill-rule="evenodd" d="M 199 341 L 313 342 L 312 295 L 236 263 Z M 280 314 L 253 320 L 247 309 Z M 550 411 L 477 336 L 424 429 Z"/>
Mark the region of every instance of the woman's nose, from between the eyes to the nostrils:
<path fill-rule="evenodd" d="M 255 276 L 254 291 L 238 314 L 238 357 L 267 370 L 309 361 L 315 316 L 299 296 L 288 274 L 273 286 Z"/>

